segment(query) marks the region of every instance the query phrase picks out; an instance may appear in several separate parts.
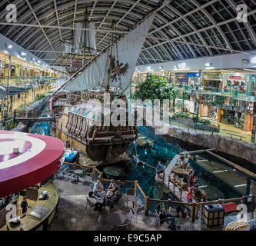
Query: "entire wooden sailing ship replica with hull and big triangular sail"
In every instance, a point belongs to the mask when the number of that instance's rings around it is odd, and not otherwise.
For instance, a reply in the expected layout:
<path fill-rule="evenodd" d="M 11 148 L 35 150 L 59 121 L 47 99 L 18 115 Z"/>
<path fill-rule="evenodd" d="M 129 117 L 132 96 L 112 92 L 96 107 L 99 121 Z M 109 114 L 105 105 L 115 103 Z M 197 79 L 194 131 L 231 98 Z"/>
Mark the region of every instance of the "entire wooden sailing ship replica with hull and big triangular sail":
<path fill-rule="evenodd" d="M 125 110 L 118 109 L 114 124 L 112 116 L 117 110 L 111 108 L 105 114 L 95 99 L 105 105 L 118 99 L 127 102 L 124 91 L 131 84 L 154 16 L 145 19 L 122 39 L 114 40 L 112 33 L 111 44 L 105 52 L 92 58 L 53 93 L 50 108 L 59 118 L 52 124 L 52 132 L 63 141 L 70 141 L 72 148 L 85 153 L 92 161 L 112 161 L 138 138 L 138 128 L 128 124 L 127 104 Z"/>

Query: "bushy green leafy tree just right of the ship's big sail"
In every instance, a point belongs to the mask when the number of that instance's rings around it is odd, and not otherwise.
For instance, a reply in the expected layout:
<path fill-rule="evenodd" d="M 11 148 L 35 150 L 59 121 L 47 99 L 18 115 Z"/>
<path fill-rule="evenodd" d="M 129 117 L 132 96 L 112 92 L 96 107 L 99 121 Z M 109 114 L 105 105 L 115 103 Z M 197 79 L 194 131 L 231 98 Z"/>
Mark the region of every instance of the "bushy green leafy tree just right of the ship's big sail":
<path fill-rule="evenodd" d="M 145 82 L 138 82 L 132 98 L 135 100 L 141 99 L 142 101 L 145 99 L 150 99 L 151 101 L 159 99 L 162 102 L 164 99 L 171 100 L 177 98 L 177 95 L 178 91 L 176 91 L 167 80 L 164 80 L 162 77 L 156 78 L 155 75 L 148 74 Z"/>

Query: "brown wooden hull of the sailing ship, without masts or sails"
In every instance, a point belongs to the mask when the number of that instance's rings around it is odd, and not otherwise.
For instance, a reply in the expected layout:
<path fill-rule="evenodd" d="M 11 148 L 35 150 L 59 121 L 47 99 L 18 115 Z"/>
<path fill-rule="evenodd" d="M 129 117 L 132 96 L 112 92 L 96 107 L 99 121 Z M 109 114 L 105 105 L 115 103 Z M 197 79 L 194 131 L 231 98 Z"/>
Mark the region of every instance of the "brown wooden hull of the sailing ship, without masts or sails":
<path fill-rule="evenodd" d="M 128 126 L 128 121 L 126 126 L 114 127 L 104 126 L 103 120 L 101 126 L 96 126 L 93 124 L 95 120 L 86 117 L 81 109 L 74 110 L 83 105 L 82 100 L 77 105 L 68 105 L 67 100 L 62 101 L 65 101 L 65 105 L 60 106 L 59 101 L 54 103 L 53 110 L 60 113 L 60 117 L 51 125 L 52 133 L 62 141 L 68 139 L 72 148 L 81 151 L 92 161 L 111 161 L 118 158 L 138 138 L 138 128 Z"/>

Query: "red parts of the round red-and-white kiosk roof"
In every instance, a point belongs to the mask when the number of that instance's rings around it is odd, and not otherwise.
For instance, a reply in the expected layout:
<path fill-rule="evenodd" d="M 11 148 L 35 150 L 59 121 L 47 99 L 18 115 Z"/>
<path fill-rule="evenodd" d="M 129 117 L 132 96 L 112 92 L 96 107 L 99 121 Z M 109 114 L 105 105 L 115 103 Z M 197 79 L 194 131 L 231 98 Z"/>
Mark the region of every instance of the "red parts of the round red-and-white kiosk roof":
<path fill-rule="evenodd" d="M 0 135 L 1 134 L 8 134 L 10 136 L 9 138 L 4 139 L 4 141 L 13 141 L 15 132 L 0 131 Z M 25 133 L 24 135 L 45 141 L 45 148 L 38 153 L 38 155 L 28 159 L 28 161 L 18 163 L 12 167 L 0 169 L 0 198 L 3 198 L 8 194 L 22 191 L 39 181 L 45 180 L 45 178 L 50 177 L 58 171 L 60 165 L 59 159 L 62 157 L 64 150 L 62 140 L 28 133 Z M 3 141 L 3 139 L 1 140 Z M 18 155 L 22 155 L 25 151 L 28 151 L 28 148 L 31 148 L 31 145 L 32 144 L 29 141 L 25 141 L 25 144 L 20 146 Z M 15 159 L 18 155 L 5 155 L 4 160 L 8 161 L 10 159 Z M 0 167 L 2 161 L 3 158 L 0 156 Z"/>

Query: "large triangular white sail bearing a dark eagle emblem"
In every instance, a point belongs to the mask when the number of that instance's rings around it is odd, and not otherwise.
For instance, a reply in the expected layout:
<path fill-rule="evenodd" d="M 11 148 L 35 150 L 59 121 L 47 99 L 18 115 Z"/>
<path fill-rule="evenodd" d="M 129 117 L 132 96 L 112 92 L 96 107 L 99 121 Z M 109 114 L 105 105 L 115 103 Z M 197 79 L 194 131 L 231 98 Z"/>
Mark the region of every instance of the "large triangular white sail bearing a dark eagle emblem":
<path fill-rule="evenodd" d="M 124 65 L 128 62 L 129 69 L 125 76 L 121 76 L 120 81 L 114 82 L 110 81 L 110 86 L 118 86 L 121 84 L 121 88 L 125 89 L 131 83 L 132 75 L 135 71 L 135 65 L 138 61 L 138 56 L 141 53 L 141 48 L 145 42 L 145 38 L 148 35 L 149 28 L 155 18 L 155 14 L 151 15 L 149 18 L 138 25 L 133 31 L 125 35 L 125 38 L 118 42 L 118 44 L 113 45 L 112 56 Z M 117 58 L 118 51 L 118 58 Z M 104 53 L 95 62 L 81 71 L 80 75 L 77 75 L 71 81 L 67 83 L 62 89 L 64 91 L 81 91 L 88 90 L 88 88 L 96 88 L 105 85 L 105 80 L 107 77 L 107 62 L 108 62 L 108 52 Z"/>

